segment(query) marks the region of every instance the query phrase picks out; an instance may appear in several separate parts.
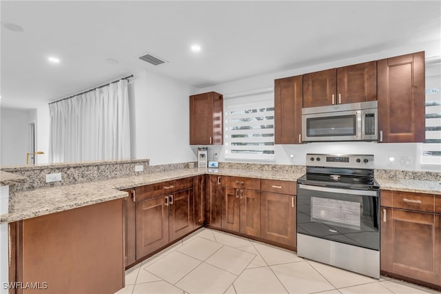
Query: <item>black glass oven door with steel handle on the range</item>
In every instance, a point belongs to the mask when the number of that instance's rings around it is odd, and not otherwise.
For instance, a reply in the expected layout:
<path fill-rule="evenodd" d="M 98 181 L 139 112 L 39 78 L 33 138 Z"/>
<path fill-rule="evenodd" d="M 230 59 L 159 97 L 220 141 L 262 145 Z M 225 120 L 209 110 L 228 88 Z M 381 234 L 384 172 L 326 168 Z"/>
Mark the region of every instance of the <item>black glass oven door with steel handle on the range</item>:
<path fill-rule="evenodd" d="M 298 184 L 297 233 L 379 250 L 379 191 Z"/>

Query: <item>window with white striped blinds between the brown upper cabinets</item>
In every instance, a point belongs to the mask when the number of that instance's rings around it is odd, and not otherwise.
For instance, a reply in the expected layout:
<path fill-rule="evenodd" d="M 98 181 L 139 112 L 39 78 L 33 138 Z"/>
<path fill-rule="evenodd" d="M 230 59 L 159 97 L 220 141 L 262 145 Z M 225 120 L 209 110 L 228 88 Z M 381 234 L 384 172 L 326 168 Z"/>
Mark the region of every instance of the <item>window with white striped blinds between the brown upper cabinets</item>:
<path fill-rule="evenodd" d="M 225 159 L 274 160 L 274 92 L 224 99 Z"/>

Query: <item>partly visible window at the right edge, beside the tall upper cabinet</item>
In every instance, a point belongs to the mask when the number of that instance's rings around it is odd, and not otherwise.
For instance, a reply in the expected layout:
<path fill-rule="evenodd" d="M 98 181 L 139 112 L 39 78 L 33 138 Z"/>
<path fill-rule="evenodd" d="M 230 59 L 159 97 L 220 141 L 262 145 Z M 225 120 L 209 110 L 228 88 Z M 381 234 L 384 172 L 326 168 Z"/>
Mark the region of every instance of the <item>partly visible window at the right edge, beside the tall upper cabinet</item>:
<path fill-rule="evenodd" d="M 421 164 L 441 165 L 441 63 L 426 61 L 426 142 L 422 144 Z"/>

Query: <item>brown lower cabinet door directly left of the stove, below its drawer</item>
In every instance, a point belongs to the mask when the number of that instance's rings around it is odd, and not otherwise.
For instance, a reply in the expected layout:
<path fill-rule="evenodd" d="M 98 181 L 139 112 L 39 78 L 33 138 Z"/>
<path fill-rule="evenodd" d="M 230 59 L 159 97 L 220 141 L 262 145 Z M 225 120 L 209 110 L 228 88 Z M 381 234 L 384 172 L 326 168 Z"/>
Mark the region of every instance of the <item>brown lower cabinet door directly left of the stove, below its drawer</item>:
<path fill-rule="evenodd" d="M 260 237 L 297 247 L 296 196 L 260 193 Z"/>

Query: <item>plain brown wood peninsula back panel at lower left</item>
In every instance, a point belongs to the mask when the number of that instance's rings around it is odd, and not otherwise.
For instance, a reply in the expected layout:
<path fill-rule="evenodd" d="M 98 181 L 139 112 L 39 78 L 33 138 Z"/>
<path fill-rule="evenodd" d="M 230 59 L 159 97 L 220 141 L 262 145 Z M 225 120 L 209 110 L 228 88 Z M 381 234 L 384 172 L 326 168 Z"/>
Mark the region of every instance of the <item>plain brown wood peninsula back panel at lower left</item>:
<path fill-rule="evenodd" d="M 9 229 L 10 282 L 23 283 L 9 293 L 116 293 L 124 287 L 123 199 L 24 219 Z"/>

